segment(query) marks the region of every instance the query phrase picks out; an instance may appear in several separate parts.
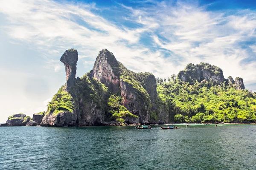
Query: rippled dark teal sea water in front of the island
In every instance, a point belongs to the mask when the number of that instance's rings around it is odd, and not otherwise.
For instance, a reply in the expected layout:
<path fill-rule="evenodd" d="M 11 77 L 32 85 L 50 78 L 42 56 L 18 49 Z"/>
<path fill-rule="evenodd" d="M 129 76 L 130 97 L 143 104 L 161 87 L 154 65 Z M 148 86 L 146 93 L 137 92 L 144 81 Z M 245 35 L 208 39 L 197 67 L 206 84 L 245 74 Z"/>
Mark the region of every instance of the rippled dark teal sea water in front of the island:
<path fill-rule="evenodd" d="M 256 169 L 256 125 L 177 126 L 0 127 L 0 169 Z"/>

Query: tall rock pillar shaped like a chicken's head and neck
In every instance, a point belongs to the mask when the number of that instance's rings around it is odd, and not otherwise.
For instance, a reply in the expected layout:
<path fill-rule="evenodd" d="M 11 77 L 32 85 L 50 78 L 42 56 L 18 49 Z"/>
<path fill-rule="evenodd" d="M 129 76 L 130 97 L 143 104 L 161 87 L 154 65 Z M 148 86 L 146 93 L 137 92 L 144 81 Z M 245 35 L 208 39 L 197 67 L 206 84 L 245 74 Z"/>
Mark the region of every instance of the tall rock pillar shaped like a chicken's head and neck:
<path fill-rule="evenodd" d="M 75 82 L 76 79 L 76 62 L 78 61 L 78 53 L 76 49 L 69 49 L 64 52 L 61 56 L 61 62 L 65 65 L 66 71 L 66 84 L 65 88 L 69 90 Z"/>

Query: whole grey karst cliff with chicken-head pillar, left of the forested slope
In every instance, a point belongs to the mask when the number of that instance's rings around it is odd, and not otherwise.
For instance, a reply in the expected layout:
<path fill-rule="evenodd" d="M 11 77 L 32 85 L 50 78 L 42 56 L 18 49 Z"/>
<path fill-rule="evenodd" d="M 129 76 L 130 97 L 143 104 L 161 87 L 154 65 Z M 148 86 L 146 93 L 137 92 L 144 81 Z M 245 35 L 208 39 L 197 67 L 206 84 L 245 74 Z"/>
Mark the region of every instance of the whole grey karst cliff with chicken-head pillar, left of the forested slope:
<path fill-rule="evenodd" d="M 169 122 L 169 108 L 157 94 L 153 74 L 134 73 L 118 62 L 113 53 L 103 49 L 93 70 L 75 78 L 77 59 L 74 49 L 61 57 L 67 81 L 49 102 L 42 126 Z M 110 104 L 112 98 L 116 100 L 114 104 Z"/>

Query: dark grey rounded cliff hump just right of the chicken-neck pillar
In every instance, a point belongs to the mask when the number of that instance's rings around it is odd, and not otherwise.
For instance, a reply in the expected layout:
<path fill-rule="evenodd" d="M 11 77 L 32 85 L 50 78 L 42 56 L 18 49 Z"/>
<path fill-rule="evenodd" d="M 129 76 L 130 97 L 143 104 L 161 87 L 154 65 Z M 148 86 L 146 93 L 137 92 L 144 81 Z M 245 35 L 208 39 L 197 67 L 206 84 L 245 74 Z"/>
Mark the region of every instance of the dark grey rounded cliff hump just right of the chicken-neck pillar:
<path fill-rule="evenodd" d="M 107 125 L 105 122 L 105 107 L 108 98 L 108 88 L 87 73 L 76 80 L 72 89 L 76 102 L 77 125 Z"/>

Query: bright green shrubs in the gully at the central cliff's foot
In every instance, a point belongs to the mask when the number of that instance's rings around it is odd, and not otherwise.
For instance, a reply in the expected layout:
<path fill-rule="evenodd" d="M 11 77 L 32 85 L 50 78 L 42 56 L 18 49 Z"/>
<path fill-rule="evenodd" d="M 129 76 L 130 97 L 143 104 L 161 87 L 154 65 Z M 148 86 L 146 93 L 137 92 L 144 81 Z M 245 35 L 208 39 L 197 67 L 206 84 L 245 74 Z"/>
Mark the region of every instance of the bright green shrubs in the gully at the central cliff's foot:
<path fill-rule="evenodd" d="M 111 115 L 111 120 L 116 122 L 125 122 L 125 118 L 138 118 L 138 116 L 130 113 L 124 106 L 121 105 L 121 97 L 111 95 L 108 99 L 108 113 Z"/>

